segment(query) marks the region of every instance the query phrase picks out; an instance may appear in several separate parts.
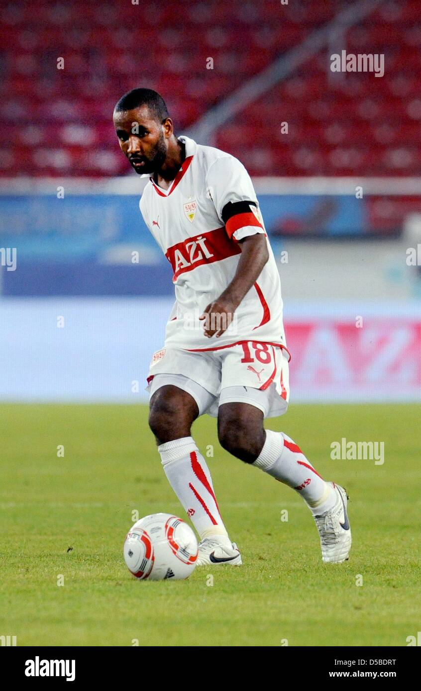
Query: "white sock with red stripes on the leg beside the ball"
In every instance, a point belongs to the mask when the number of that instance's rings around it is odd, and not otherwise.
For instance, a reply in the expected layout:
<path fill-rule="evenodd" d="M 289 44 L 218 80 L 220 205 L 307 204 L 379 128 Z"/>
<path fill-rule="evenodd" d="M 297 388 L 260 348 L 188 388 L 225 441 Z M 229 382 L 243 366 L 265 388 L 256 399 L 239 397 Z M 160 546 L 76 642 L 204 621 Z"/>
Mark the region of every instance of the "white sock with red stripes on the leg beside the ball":
<path fill-rule="evenodd" d="M 216 538 L 230 545 L 216 502 L 212 477 L 193 437 L 174 439 L 158 446 L 162 466 L 200 538 Z"/>

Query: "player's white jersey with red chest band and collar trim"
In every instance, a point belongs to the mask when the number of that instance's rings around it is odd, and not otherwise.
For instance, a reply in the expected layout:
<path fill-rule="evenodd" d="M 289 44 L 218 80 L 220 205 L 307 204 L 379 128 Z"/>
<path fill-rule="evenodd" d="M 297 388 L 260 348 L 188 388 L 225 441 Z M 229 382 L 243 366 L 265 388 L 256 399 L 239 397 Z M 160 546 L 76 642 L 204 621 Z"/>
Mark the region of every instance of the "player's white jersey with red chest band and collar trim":
<path fill-rule="evenodd" d="M 174 271 L 176 302 L 165 346 L 214 350 L 257 341 L 285 348 L 281 282 L 268 239 L 268 262 L 237 307 L 234 321 L 218 339 L 205 337 L 198 317 L 234 278 L 241 254 L 238 240 L 265 234 L 265 228 L 243 164 L 219 149 L 179 139 L 186 158 L 169 189 L 149 178 L 140 199 L 144 222 Z"/>

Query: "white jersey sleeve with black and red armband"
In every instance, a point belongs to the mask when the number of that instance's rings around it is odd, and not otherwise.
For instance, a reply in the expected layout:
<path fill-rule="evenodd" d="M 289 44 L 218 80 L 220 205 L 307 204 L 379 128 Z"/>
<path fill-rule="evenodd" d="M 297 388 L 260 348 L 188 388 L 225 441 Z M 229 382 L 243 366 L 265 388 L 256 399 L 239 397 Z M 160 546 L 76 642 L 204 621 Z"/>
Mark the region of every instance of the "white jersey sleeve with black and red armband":
<path fill-rule="evenodd" d="M 265 233 L 252 180 L 237 158 L 230 155 L 217 158 L 207 171 L 206 187 L 222 223 L 223 209 L 227 204 L 252 202 L 247 206 L 249 213 L 238 214 L 235 223 L 231 219 L 225 223 L 230 238 L 241 240 L 249 235 Z"/>

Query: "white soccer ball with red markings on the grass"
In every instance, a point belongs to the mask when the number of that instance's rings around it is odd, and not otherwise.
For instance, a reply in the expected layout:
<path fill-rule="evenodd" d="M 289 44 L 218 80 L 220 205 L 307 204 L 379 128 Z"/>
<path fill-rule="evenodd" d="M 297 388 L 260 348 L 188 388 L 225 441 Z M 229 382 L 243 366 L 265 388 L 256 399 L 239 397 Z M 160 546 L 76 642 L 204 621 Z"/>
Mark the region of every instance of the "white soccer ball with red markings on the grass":
<path fill-rule="evenodd" d="M 188 578 L 198 555 L 194 532 L 171 513 L 152 513 L 135 523 L 124 540 L 124 561 L 140 580 Z"/>

